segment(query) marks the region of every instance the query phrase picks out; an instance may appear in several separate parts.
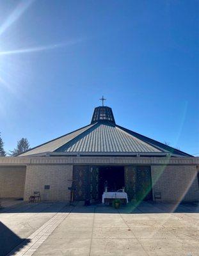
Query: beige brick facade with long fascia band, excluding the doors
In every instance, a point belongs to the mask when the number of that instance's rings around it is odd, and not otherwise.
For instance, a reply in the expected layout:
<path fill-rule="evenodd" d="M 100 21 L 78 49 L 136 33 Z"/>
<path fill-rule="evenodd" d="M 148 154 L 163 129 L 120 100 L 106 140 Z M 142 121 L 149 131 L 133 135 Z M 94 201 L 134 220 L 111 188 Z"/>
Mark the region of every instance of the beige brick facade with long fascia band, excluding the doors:
<path fill-rule="evenodd" d="M 153 196 L 157 191 L 163 201 L 199 200 L 199 157 L 0 157 L 0 197 L 29 200 L 39 190 L 42 200 L 68 201 L 73 166 L 84 164 L 150 165 Z"/>

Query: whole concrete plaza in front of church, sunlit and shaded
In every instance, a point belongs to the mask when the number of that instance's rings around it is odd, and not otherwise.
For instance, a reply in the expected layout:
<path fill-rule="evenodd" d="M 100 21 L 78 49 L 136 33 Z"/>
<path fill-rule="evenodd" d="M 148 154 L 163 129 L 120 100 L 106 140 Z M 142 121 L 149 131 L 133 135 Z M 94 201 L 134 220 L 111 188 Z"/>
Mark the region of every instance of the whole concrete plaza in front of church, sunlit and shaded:
<path fill-rule="evenodd" d="M 143 202 L 116 211 L 102 205 L 21 205 L 0 214 L 12 234 L 0 233 L 0 246 L 8 237 L 13 241 L 0 255 L 13 249 L 9 255 L 198 256 L 199 206 L 176 206 Z"/>

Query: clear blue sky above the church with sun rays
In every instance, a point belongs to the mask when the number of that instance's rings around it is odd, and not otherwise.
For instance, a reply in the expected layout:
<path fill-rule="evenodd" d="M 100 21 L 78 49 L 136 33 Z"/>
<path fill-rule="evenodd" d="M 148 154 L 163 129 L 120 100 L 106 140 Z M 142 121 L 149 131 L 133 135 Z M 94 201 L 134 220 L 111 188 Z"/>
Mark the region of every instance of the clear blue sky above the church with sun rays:
<path fill-rule="evenodd" d="M 0 132 L 13 150 L 90 123 L 199 156 L 199 2 L 1 1 Z"/>

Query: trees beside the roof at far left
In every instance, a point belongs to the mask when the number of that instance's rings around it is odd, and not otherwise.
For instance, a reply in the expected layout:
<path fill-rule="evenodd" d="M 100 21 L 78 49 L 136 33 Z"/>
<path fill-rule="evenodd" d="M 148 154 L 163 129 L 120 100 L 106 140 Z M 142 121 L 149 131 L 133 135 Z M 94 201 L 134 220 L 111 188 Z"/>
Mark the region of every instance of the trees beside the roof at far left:
<path fill-rule="evenodd" d="M 26 138 L 21 138 L 19 141 L 17 141 L 17 147 L 14 148 L 13 150 L 9 150 L 9 152 L 6 152 L 4 150 L 4 142 L 3 139 L 1 138 L 1 132 L 0 132 L 0 157 L 1 156 L 17 156 L 26 150 L 29 150 L 29 142 Z"/>

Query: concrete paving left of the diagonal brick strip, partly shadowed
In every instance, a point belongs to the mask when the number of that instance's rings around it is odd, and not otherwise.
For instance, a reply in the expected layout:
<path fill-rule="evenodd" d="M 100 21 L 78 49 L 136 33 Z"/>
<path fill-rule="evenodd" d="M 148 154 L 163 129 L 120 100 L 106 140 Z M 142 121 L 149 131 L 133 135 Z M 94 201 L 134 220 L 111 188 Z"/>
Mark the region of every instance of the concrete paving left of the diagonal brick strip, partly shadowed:
<path fill-rule="evenodd" d="M 22 204 L 0 211 L 0 256 L 6 255 L 18 244 L 20 248 L 28 244 L 28 237 L 63 207 L 64 203 Z"/>

